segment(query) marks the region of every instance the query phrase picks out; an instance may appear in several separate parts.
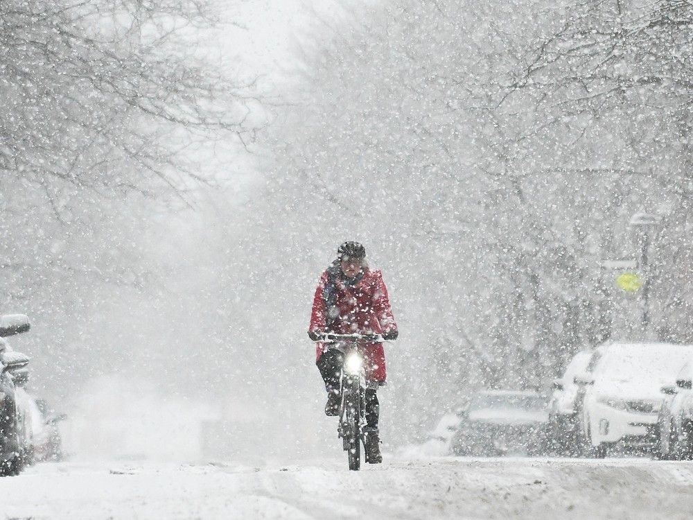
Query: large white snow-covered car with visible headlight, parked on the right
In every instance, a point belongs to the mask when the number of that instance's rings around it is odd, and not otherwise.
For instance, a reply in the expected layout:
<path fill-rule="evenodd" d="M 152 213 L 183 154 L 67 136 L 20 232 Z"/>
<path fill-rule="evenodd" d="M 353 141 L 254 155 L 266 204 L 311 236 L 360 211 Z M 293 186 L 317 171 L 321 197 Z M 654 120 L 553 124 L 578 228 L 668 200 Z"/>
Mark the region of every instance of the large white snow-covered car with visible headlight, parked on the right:
<path fill-rule="evenodd" d="M 597 349 L 593 374 L 584 381 L 583 426 L 593 456 L 613 447 L 657 449 L 661 388 L 670 383 L 693 347 L 667 343 L 613 343 Z"/>

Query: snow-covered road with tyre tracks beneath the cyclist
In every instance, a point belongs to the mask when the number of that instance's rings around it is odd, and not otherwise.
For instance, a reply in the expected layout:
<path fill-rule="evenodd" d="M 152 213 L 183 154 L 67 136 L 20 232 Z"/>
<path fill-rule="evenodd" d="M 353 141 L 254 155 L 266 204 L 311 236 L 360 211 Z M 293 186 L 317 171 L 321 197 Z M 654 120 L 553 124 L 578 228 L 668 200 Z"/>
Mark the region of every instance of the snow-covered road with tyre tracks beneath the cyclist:
<path fill-rule="evenodd" d="M 629 518 L 693 515 L 693 463 L 390 458 L 224 465 L 37 465 L 0 480 L 0 519 Z"/>

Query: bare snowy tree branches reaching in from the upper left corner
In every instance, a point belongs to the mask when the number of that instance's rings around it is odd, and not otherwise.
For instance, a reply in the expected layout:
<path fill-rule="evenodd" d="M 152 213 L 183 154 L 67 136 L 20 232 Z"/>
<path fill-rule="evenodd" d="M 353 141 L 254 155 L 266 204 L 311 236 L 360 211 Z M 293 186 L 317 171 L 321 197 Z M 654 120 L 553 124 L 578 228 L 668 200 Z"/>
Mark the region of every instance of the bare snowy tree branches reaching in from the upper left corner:
<path fill-rule="evenodd" d="M 212 21 L 196 0 L 3 2 L 2 171 L 51 202 L 62 184 L 150 195 L 209 181 L 195 143 L 247 145 L 252 98 L 189 37 Z"/>

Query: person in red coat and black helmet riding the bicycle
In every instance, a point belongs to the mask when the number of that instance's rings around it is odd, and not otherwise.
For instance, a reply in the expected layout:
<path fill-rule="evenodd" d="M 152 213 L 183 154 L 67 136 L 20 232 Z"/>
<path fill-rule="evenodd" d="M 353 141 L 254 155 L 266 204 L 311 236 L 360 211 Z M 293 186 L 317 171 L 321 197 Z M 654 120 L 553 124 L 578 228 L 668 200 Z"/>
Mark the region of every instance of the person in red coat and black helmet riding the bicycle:
<path fill-rule="evenodd" d="M 366 250 L 358 242 L 344 242 L 337 249 L 337 259 L 320 277 L 313 299 L 308 336 L 313 341 L 323 333 L 380 334 L 384 340 L 395 340 L 397 324 L 390 309 L 387 288 L 379 270 L 370 270 Z M 365 358 L 366 428 L 364 444 L 366 459 L 383 461 L 380 455 L 378 386 L 385 384 L 385 350 L 383 343 L 362 344 Z M 340 376 L 343 354 L 317 343 L 316 364 L 327 390 L 326 415 L 338 415 L 340 407 Z"/>

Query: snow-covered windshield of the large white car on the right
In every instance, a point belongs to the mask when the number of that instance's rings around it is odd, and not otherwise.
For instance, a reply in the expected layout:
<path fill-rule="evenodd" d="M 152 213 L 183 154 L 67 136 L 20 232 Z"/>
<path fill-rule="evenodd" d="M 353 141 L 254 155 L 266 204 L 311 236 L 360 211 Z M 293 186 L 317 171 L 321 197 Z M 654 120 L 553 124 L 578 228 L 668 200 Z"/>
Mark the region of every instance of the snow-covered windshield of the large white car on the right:
<path fill-rule="evenodd" d="M 683 345 L 613 345 L 597 367 L 600 379 L 661 380 L 677 374 L 693 354 Z"/>

